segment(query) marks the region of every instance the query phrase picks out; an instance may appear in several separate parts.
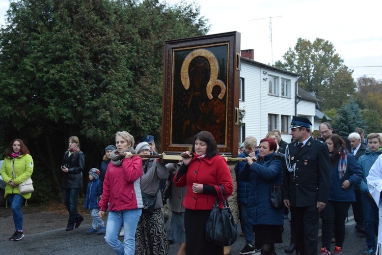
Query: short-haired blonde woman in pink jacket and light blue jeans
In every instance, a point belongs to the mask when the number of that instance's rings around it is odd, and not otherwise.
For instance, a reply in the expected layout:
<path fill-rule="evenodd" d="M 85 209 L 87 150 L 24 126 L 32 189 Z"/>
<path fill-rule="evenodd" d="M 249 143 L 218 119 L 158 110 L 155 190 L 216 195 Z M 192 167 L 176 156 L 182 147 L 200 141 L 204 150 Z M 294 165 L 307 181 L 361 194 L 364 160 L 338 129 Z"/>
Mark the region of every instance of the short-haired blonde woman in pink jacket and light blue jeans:
<path fill-rule="evenodd" d="M 106 243 L 117 254 L 134 254 L 135 231 L 142 214 L 142 159 L 132 156 L 135 153 L 131 147 L 133 144 L 132 135 L 126 131 L 117 132 L 117 150 L 112 151 L 110 155 L 111 162 L 107 166 L 103 181 L 102 199 L 98 203 L 98 215 L 101 218 L 106 209 L 109 210 Z M 125 231 L 123 243 L 118 240 L 118 231 L 122 223 Z"/>

